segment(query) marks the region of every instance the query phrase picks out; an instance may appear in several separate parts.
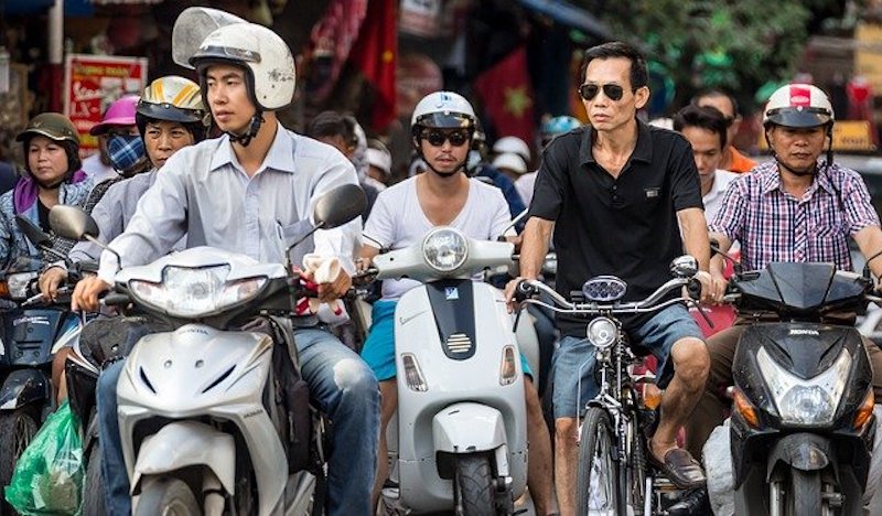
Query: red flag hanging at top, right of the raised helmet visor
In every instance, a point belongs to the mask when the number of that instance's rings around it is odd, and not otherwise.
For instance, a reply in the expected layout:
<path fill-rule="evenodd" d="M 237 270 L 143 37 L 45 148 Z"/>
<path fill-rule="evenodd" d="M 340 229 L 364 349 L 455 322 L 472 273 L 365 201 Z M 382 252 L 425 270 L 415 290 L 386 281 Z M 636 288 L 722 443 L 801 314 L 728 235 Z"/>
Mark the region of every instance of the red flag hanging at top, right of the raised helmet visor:
<path fill-rule="evenodd" d="M 397 0 L 370 0 L 351 58 L 372 86 L 374 108 L 370 125 L 383 131 L 395 117 L 395 68 L 398 56 Z"/>

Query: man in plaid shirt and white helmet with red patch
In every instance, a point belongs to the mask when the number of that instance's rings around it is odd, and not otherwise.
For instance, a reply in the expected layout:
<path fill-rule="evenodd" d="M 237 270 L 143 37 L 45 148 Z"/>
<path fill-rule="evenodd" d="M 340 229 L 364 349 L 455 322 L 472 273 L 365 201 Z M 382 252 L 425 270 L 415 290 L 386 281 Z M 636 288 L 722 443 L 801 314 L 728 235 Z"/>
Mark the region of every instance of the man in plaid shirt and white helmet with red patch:
<path fill-rule="evenodd" d="M 763 269 L 773 261 L 819 261 L 851 270 L 851 237 L 873 275 L 882 277 L 879 216 L 861 176 L 832 161 L 833 109 L 827 95 L 809 84 L 783 86 L 768 99 L 763 126 L 775 159 L 729 185 L 722 207 L 709 225 L 711 239 L 722 251 L 738 241 L 744 270 Z M 718 284 L 725 283 L 723 269 L 723 258 L 714 256 L 710 271 Z M 714 293 L 720 301 L 723 289 Z M 732 385 L 732 361 L 746 322 L 739 319 L 707 341 L 711 358 L 707 389 L 686 429 L 691 450 L 700 450 L 725 417 L 730 405 L 725 389 Z M 880 399 L 882 352 L 870 341 L 867 351 Z M 707 492 L 687 497 L 669 514 L 704 514 L 708 506 L 701 498 L 707 498 Z"/>

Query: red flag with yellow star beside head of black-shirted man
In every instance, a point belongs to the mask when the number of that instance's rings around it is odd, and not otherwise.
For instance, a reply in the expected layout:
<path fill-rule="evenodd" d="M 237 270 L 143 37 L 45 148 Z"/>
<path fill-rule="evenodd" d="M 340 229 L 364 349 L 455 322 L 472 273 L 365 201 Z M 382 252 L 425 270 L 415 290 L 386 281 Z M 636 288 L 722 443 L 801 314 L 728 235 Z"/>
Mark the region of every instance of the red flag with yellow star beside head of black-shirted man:
<path fill-rule="evenodd" d="M 518 47 L 477 76 L 475 92 L 498 136 L 534 141 L 533 88 L 527 73 L 527 49 Z"/>

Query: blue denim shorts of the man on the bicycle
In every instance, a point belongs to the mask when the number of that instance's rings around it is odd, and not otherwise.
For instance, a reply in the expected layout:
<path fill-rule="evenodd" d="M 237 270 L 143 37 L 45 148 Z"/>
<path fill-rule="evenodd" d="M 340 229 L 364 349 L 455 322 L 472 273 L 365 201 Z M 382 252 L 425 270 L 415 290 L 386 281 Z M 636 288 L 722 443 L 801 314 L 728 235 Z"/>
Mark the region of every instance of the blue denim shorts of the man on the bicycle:
<path fill-rule="evenodd" d="M 670 348 L 674 343 L 686 337 L 704 340 L 698 324 L 682 304 L 666 308 L 628 334 L 631 342 L 639 343 L 658 358 L 656 384 L 662 388 L 674 377 L 674 361 L 667 359 Z M 555 418 L 577 417 L 585 404 L 598 396 L 600 386 L 593 374 L 595 362 L 594 345 L 588 338 L 561 338 L 551 362 Z"/>

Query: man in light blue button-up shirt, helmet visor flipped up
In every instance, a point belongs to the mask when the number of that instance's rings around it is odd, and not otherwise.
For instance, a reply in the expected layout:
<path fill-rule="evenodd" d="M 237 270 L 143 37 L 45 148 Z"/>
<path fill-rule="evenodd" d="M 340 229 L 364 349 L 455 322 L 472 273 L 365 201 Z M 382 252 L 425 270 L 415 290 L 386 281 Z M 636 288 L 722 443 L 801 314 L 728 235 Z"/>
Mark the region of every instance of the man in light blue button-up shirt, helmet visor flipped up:
<path fill-rule="evenodd" d="M 198 73 L 205 104 L 224 136 L 172 155 L 110 247 L 127 267 L 142 265 L 168 252 L 186 233 L 190 247 L 207 245 L 263 262 L 284 262 L 282 251 L 312 228 L 315 198 L 336 186 L 358 184 L 352 163 L 332 147 L 278 122 L 275 111 L 293 99 L 295 72 L 290 50 L 269 29 L 246 22 L 220 26 L 182 61 L 179 64 Z M 356 219 L 318 230 L 313 240 L 292 251 L 294 262 L 305 252 L 316 252 L 343 264 L 334 281 L 319 286 L 322 301 L 348 289 L 359 229 Z M 95 310 L 117 267 L 114 254 L 105 251 L 97 278 L 77 284 L 73 309 Z M 301 374 L 313 401 L 334 423 L 326 514 L 368 515 L 379 423 L 377 381 L 362 359 L 314 319 L 292 322 Z M 116 418 L 121 365 L 105 370 L 97 395 L 101 459 L 109 473 L 104 479 L 107 508 L 114 515 L 130 512 Z"/>

